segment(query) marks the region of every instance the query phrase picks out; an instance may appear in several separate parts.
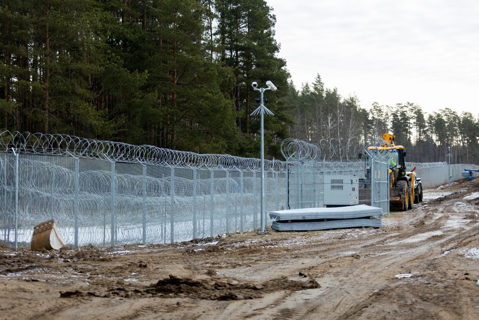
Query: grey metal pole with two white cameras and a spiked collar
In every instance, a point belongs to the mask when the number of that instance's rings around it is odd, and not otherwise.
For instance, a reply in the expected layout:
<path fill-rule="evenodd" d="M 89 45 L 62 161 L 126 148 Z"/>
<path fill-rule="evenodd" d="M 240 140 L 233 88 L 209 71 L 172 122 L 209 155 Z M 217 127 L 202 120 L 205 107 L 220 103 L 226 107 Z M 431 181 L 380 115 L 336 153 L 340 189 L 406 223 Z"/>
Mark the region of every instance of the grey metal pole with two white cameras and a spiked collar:
<path fill-rule="evenodd" d="M 274 113 L 264 106 L 263 93 L 265 90 L 275 91 L 277 88 L 271 81 L 266 82 L 266 85 L 268 86 L 268 88 L 258 88 L 258 84 L 256 82 L 253 82 L 251 85 L 253 86 L 254 90 L 257 90 L 261 93 L 259 107 L 256 108 L 256 110 L 254 110 L 253 112 L 251 112 L 252 116 L 257 115 L 258 113 L 261 114 L 261 211 L 260 211 L 261 229 L 258 232 L 258 234 L 268 234 L 268 231 L 264 230 L 265 220 L 266 220 L 265 219 L 266 212 L 264 210 L 264 113 L 268 115 L 274 115 Z"/>

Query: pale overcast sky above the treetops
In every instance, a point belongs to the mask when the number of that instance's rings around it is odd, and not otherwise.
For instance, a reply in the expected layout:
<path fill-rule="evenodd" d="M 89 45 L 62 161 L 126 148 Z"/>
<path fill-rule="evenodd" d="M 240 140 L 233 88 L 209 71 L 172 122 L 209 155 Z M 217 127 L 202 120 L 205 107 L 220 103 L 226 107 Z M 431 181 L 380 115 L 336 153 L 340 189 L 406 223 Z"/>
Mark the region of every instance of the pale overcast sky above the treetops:
<path fill-rule="evenodd" d="M 479 115 L 478 0 L 267 3 L 279 57 L 298 89 L 320 73 L 327 88 L 356 95 L 361 107 L 412 102 L 428 113 Z"/>

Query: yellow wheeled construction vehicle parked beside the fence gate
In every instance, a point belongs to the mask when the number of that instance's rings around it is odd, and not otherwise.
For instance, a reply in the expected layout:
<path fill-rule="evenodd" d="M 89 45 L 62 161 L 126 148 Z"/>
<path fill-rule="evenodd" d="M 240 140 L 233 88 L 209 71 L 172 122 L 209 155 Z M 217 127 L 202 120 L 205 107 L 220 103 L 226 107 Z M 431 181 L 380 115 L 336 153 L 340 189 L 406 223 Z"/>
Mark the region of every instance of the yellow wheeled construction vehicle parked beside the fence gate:
<path fill-rule="evenodd" d="M 412 209 L 414 203 L 414 172 L 406 170 L 406 150 L 404 146 L 395 144 L 395 136 L 383 134 L 386 141 L 380 146 L 369 146 L 367 151 L 373 156 L 377 153 L 388 159 L 389 170 L 389 207 L 402 211 Z M 421 196 L 422 200 L 422 196 Z"/>

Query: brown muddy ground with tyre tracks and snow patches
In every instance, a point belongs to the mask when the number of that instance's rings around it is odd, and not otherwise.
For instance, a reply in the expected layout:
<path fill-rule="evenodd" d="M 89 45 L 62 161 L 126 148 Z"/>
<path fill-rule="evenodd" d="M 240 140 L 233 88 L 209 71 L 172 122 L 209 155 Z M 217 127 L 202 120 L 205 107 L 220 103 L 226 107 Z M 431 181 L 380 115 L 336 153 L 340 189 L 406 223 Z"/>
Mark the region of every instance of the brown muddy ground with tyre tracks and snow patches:
<path fill-rule="evenodd" d="M 7 319 L 479 319 L 479 179 L 381 229 L 253 232 L 59 252 L 0 248 Z"/>

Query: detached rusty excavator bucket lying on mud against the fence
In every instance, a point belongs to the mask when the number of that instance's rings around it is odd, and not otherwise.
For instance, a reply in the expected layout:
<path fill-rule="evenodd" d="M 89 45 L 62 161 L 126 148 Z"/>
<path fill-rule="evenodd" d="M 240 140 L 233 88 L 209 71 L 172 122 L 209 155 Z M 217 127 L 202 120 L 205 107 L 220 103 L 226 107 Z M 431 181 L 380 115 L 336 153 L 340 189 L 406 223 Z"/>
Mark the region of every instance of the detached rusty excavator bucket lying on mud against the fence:
<path fill-rule="evenodd" d="M 44 221 L 33 228 L 32 243 L 30 244 L 31 250 L 42 248 L 59 250 L 62 247 L 65 247 L 65 240 L 58 232 L 54 219 Z"/>

